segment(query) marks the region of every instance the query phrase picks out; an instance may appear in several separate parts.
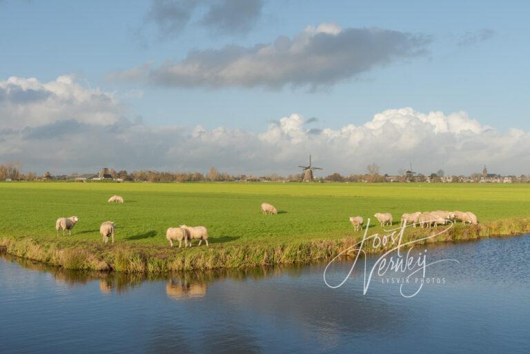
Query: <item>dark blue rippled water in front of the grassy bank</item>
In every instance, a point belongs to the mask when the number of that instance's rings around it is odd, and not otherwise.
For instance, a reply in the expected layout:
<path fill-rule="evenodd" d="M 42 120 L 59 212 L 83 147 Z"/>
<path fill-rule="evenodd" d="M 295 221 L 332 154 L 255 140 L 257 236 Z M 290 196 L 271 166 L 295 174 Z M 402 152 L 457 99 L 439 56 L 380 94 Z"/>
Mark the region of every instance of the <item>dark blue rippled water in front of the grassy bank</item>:
<path fill-rule="evenodd" d="M 325 264 L 161 279 L 0 258 L 1 353 L 530 353 L 530 237 L 430 246 L 415 297 Z M 377 257 L 369 257 L 369 265 Z M 341 279 L 351 261 L 335 264 Z"/>

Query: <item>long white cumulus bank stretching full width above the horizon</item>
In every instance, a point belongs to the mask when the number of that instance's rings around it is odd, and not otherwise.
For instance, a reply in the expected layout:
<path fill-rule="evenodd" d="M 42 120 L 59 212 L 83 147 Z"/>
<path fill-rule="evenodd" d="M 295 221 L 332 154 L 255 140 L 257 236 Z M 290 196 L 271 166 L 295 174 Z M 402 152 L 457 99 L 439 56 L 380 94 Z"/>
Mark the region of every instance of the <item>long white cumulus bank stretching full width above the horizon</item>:
<path fill-rule="evenodd" d="M 82 88 L 72 79 L 66 84 L 61 83 L 61 78 L 52 81 L 55 85 L 48 87 L 53 90 L 42 88 L 48 83 L 29 81 L 27 86 L 15 86 L 16 90 L 1 91 L 0 162 L 21 161 L 25 169 L 39 173 L 90 172 L 101 166 L 188 171 L 217 166 L 230 173 L 288 175 L 300 172 L 297 166 L 304 164 L 310 153 L 315 164 L 324 168 L 317 172 L 322 174 L 364 173 L 372 162 L 386 173 L 396 173 L 410 161 L 415 170 L 423 173 L 442 168 L 447 173 L 467 174 L 480 170 L 483 164 L 498 173 L 529 172 L 520 168 L 530 164 L 530 132 L 500 132 L 480 124 L 466 112 L 391 109 L 377 113 L 364 124 L 340 129 L 315 127 L 323 123 L 297 114 L 272 122 L 262 132 L 224 127 L 155 127 L 141 119 L 122 118 L 119 104 L 110 108 L 108 100 L 112 102 L 112 98 L 108 94 Z M 26 93 L 21 93 L 24 88 Z M 30 88 L 33 91 L 28 91 Z M 59 106 L 57 92 L 70 97 L 63 101 L 68 108 Z M 93 95 L 109 98 L 103 100 L 101 108 L 91 101 Z M 89 97 L 86 99 L 91 103 L 86 104 L 79 97 Z M 35 104 L 41 110 L 26 109 Z M 111 118 L 91 119 L 87 112 L 81 115 L 77 105 L 89 107 L 95 116 L 105 112 L 100 116 Z M 28 114 L 18 115 L 19 112 Z M 52 112 L 58 114 L 54 116 Z M 39 117 L 41 113 L 46 119 Z M 13 122 L 12 117 L 23 120 Z"/>

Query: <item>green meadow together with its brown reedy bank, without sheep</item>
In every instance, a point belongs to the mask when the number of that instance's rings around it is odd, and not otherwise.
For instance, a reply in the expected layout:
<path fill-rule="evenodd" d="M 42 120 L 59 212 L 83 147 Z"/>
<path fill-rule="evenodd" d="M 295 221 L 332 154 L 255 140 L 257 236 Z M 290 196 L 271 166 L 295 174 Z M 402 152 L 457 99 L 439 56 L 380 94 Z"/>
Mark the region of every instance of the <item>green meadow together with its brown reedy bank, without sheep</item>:
<path fill-rule="evenodd" d="M 66 268 L 166 271 L 310 262 L 355 243 L 352 215 L 425 210 L 473 211 L 479 226 L 451 230 L 445 239 L 530 231 L 527 184 L 302 183 L 0 183 L 0 247 L 8 253 Z M 108 204 L 111 195 L 125 204 Z M 278 215 L 262 215 L 263 201 Z M 76 215 L 72 235 L 55 230 L 57 217 Z M 104 245 L 99 225 L 117 224 Z M 208 228 L 210 247 L 168 247 L 166 229 Z M 415 230 L 415 233 L 419 233 Z M 377 250 L 374 250 L 377 251 Z"/>

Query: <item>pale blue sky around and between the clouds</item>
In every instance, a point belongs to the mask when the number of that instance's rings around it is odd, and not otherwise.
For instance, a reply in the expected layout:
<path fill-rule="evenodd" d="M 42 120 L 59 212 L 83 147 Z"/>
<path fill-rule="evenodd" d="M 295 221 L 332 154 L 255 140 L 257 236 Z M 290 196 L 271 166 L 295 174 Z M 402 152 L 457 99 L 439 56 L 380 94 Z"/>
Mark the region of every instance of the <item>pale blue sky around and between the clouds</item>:
<path fill-rule="evenodd" d="M 190 19 L 173 32 L 164 32 L 150 14 L 157 4 L 182 1 L 0 1 L 0 80 L 35 77 L 45 83 L 70 75 L 83 88 L 112 95 L 121 117 L 136 122 L 141 117 L 142 124 L 153 129 L 193 130 L 199 125 L 208 131 L 223 127 L 259 134 L 271 122 L 296 113 L 317 118 L 307 129 L 340 130 L 349 124 L 362 126 L 378 112 L 411 107 L 425 114 L 465 111 L 498 134 L 510 128 L 530 130 L 530 4 L 526 1 L 255 0 L 259 9 L 253 21 L 246 28 L 226 31 L 204 21 L 208 6 L 223 1 L 195 1 L 198 5 L 190 10 Z M 260 43 L 271 45 L 280 36 L 294 40 L 307 26 L 322 23 L 335 23 L 342 30 L 379 28 L 418 36 L 425 41 L 418 47 L 423 52 L 339 75 L 316 88 L 304 83 L 293 88 L 289 79 L 275 87 L 222 83 L 212 88 L 112 77 L 146 63 L 153 72 L 161 72 L 164 63 L 183 63 L 193 50 L 222 50 L 229 45 L 250 50 Z M 1 119 L 12 119 L 10 112 L 0 108 Z M 24 160 L 4 157 L 8 158 Z M 165 161 L 153 167 L 204 169 L 208 162 L 173 166 Z M 384 161 L 380 164 L 386 166 Z M 241 161 L 226 167 L 237 166 L 246 168 Z M 135 167 L 140 166 L 129 166 Z M 68 168 L 68 161 L 57 168 Z M 389 168 L 397 167 L 389 164 Z M 462 166 L 453 168 L 462 170 Z M 498 168 L 513 170 L 501 162 Z"/>

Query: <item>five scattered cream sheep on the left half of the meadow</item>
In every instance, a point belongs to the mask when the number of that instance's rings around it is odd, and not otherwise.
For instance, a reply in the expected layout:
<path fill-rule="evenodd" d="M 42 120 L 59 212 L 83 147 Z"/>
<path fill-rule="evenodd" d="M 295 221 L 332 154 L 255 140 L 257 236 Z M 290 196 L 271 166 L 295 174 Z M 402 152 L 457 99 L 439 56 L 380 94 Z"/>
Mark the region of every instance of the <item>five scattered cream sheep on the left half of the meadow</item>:
<path fill-rule="evenodd" d="M 119 195 L 113 195 L 108 199 L 109 203 L 124 203 L 124 198 Z M 274 208 L 274 207 L 273 207 Z M 274 209 L 275 210 L 275 209 Z M 63 230 L 63 235 L 65 231 L 68 230 L 68 235 L 72 235 L 72 228 L 79 221 L 79 217 L 59 217 L 55 223 L 55 230 L 57 230 L 57 235 L 59 235 L 59 230 Z M 116 235 L 116 224 L 114 222 L 104 222 L 99 227 L 99 233 L 103 237 L 103 242 L 108 243 L 108 237 L 112 237 L 112 243 L 114 243 L 114 237 Z M 173 247 L 173 241 L 179 242 L 179 248 L 182 246 L 184 241 L 185 247 L 191 247 L 191 242 L 194 239 L 199 240 L 198 246 L 201 246 L 203 240 L 208 246 L 208 229 L 204 226 L 186 226 L 181 225 L 177 228 L 168 228 L 166 231 L 166 239 L 168 239 L 169 244 Z"/>

